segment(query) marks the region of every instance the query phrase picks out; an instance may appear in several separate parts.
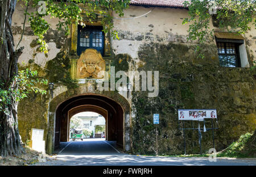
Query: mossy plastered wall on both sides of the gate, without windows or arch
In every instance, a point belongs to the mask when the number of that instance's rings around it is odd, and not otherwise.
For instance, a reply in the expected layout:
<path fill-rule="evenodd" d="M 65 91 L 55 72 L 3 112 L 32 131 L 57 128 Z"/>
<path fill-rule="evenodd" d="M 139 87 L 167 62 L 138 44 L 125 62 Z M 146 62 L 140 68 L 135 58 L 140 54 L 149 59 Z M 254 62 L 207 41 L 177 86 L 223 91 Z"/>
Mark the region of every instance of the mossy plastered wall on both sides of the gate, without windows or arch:
<path fill-rule="evenodd" d="M 23 8 L 19 2 L 13 16 L 15 44 L 18 44 L 22 32 Z M 158 97 L 148 98 L 145 91 L 132 92 L 132 151 L 140 154 L 155 153 L 153 113 L 160 114 L 159 154 L 183 153 L 183 131 L 178 129 L 177 109 L 217 109 L 219 129 L 214 131 L 217 150 L 224 149 L 241 134 L 255 130 L 255 69 L 220 67 L 213 38 L 203 48 L 205 58 L 197 58 L 194 52 L 196 42 L 187 42 L 188 25 L 182 24 L 188 16 L 185 9 L 131 6 L 123 18 L 140 16 L 150 10 L 141 18 L 114 19 L 114 28 L 120 40 L 111 41 L 112 56 L 109 60 L 117 70 L 159 71 Z M 51 24 L 46 35 L 49 53 L 38 52 L 36 37 L 26 23 L 20 43 L 25 49 L 19 64 L 20 69 L 25 66 L 35 68 L 42 77 L 54 82 L 55 98 L 84 85 L 77 85 L 70 75 L 72 35 L 64 36 L 64 32 L 56 31 L 58 19 L 47 17 L 47 20 Z M 252 28 L 243 36 L 250 66 L 253 66 L 256 30 Z M 26 63 L 25 66 L 22 62 Z M 19 103 L 19 129 L 23 141 L 30 140 L 31 128 L 45 129 L 47 132 L 48 106 L 48 96 L 38 94 L 32 94 Z M 205 151 L 212 147 L 212 133 L 203 132 L 202 135 Z M 188 130 L 185 136 L 187 153 L 199 153 L 197 131 Z"/>

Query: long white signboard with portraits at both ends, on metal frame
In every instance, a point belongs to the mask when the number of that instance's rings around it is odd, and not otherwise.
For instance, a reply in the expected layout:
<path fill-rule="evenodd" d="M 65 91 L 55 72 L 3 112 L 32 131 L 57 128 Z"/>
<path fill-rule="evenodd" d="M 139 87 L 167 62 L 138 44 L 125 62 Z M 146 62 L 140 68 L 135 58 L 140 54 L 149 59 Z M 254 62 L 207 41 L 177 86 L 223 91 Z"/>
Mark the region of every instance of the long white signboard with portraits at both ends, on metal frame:
<path fill-rule="evenodd" d="M 179 109 L 179 120 L 197 120 L 217 119 L 216 109 Z"/>

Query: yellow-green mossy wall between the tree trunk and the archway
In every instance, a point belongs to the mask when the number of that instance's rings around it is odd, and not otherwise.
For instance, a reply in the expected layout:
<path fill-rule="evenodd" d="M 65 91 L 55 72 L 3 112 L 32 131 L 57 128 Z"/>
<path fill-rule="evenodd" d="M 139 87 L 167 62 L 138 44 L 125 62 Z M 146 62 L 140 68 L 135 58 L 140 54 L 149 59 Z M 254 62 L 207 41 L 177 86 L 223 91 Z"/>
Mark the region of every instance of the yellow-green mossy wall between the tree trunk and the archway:
<path fill-rule="evenodd" d="M 39 78 L 46 78 L 46 70 L 36 65 L 34 61 L 28 65 L 19 65 L 19 70 L 30 68 L 38 71 Z M 40 85 L 40 88 L 48 90 L 47 85 Z M 32 128 L 44 129 L 44 140 L 47 136 L 47 113 L 48 95 L 30 92 L 27 98 L 20 100 L 18 105 L 19 133 L 25 143 L 31 140 Z"/>

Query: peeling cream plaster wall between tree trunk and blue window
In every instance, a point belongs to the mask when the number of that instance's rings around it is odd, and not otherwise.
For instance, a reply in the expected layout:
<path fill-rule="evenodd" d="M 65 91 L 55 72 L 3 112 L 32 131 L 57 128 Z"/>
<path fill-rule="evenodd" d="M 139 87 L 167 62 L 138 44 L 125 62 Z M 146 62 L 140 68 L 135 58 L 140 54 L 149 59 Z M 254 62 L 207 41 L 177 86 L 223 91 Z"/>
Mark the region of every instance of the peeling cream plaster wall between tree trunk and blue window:
<path fill-rule="evenodd" d="M 32 11 L 35 11 L 35 9 L 28 7 L 28 13 L 31 13 Z M 39 45 L 36 44 L 36 36 L 34 36 L 34 32 L 32 32 L 30 24 L 26 22 L 23 39 L 19 44 L 19 47 L 24 46 L 23 53 L 18 61 L 19 64 L 22 64 L 23 62 L 25 64 L 28 64 L 28 62 L 34 61 L 36 64 L 44 67 L 46 66 L 47 61 L 52 60 L 56 57 L 57 53 L 59 53 L 61 50 L 67 49 L 66 40 L 68 37 L 65 37 L 63 32 L 57 32 L 56 29 L 56 24 L 59 19 L 50 18 L 50 16 L 47 16 L 45 19 L 51 25 L 51 29 L 46 35 L 46 42 L 48 44 L 49 52 L 47 54 L 44 54 L 43 52 L 38 51 Z M 16 5 L 12 21 L 15 47 L 18 44 L 22 34 L 23 22 L 24 4 L 19 1 Z"/>

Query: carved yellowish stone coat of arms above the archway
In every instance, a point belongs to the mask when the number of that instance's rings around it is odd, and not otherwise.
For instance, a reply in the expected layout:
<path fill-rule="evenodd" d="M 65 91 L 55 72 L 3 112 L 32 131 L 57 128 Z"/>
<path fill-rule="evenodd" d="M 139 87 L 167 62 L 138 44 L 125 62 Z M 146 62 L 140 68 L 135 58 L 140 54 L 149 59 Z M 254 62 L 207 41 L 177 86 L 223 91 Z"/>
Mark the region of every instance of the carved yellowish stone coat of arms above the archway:
<path fill-rule="evenodd" d="M 86 49 L 77 61 L 78 78 L 104 78 L 105 61 L 95 49 Z"/>

